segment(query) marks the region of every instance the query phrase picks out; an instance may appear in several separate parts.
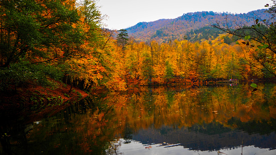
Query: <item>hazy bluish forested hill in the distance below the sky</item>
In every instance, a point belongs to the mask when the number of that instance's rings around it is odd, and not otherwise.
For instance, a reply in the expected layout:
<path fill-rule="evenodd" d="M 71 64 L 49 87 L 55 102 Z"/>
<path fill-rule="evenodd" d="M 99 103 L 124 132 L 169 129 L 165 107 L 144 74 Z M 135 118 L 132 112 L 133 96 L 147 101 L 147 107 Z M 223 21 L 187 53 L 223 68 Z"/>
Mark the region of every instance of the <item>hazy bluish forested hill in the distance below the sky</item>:
<path fill-rule="evenodd" d="M 127 28 L 127 31 L 129 36 L 134 37 L 137 41 L 145 42 L 156 40 L 162 43 L 183 38 L 187 38 L 190 41 L 208 40 L 209 38 L 212 39 L 212 36 L 214 38 L 223 33 L 218 29 L 206 27 L 209 23 L 216 23 L 217 21 L 225 22 L 227 18 L 233 25 L 252 25 L 254 24 L 254 18 L 271 18 L 271 15 L 265 11 L 266 9 L 259 9 L 240 14 L 213 11 L 185 13 L 175 19 L 139 22 Z"/>

